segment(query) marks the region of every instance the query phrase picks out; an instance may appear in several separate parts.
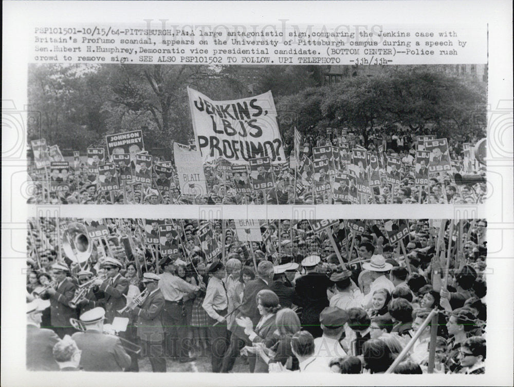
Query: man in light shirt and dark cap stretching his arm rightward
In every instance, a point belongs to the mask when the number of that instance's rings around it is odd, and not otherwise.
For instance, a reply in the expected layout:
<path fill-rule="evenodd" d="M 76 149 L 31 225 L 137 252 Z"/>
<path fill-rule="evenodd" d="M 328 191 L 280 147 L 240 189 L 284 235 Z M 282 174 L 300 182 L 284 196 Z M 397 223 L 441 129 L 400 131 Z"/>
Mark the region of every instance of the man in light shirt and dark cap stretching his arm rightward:
<path fill-rule="evenodd" d="M 175 275 L 175 265 L 170 257 L 161 261 L 164 273 L 159 275 L 159 289 L 162 292 L 165 303 L 162 308 L 162 322 L 165 326 L 167 355 L 178 358 L 181 363 L 193 361 L 196 358 L 189 357 L 187 339 L 186 310 L 183 296 L 200 289 L 205 290 L 205 285 L 194 286 Z"/>

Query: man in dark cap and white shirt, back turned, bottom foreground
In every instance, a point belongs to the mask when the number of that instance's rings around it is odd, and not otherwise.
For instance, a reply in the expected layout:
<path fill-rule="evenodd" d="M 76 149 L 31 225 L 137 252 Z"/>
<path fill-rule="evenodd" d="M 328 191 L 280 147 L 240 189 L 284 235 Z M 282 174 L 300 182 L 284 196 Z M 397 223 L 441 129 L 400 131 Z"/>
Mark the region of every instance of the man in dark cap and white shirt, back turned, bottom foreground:
<path fill-rule="evenodd" d="M 314 353 L 327 367 L 333 358 L 346 356 L 340 340 L 344 335 L 344 324 L 347 321 L 348 313 L 337 307 L 327 306 L 320 313 L 323 335 L 314 339 Z"/>

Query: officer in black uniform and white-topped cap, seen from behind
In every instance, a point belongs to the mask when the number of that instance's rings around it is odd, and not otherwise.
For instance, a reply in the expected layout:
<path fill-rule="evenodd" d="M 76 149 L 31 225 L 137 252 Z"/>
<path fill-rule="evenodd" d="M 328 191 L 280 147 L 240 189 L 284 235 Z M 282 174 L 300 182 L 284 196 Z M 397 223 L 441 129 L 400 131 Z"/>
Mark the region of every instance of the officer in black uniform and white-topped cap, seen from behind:
<path fill-rule="evenodd" d="M 323 334 L 319 316 L 321 311 L 328 306 L 326 289 L 330 281 L 325 274 L 318 273 L 318 265 L 321 258 L 317 255 L 310 255 L 302 260 L 302 266 L 306 274 L 296 280 L 294 303 L 303 308 L 300 319 L 302 327 L 311 335 L 321 337 Z"/>

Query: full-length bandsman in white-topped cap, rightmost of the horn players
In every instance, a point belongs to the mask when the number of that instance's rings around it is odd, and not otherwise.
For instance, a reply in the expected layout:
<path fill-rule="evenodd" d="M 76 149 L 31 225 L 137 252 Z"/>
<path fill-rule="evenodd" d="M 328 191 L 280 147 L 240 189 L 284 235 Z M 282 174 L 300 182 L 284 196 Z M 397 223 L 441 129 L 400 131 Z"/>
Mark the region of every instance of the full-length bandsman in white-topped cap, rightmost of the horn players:
<path fill-rule="evenodd" d="M 132 309 L 132 315 L 137 317 L 137 335 L 141 339 L 143 356 L 149 358 L 153 372 L 166 372 L 166 358 L 162 348 L 164 331 L 161 322 L 164 297 L 159 289 L 159 276 L 144 273 L 142 282 L 148 289 L 148 295 L 144 297 L 140 306 L 132 300 L 128 307 Z"/>

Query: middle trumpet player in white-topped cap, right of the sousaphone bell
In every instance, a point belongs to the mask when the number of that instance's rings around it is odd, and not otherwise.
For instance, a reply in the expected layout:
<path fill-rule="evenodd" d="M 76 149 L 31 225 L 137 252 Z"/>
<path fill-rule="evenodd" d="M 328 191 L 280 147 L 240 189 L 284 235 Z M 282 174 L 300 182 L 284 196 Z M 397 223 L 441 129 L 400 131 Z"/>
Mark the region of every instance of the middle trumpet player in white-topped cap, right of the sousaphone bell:
<path fill-rule="evenodd" d="M 105 294 L 105 317 L 107 323 L 112 324 L 115 317 L 121 317 L 117 312 L 126 305 L 126 296 L 130 282 L 122 277 L 120 269 L 122 264 L 114 258 L 107 257 L 102 265 L 107 272 L 107 279 L 97 279 L 94 284 L 100 286 L 100 291 Z"/>

